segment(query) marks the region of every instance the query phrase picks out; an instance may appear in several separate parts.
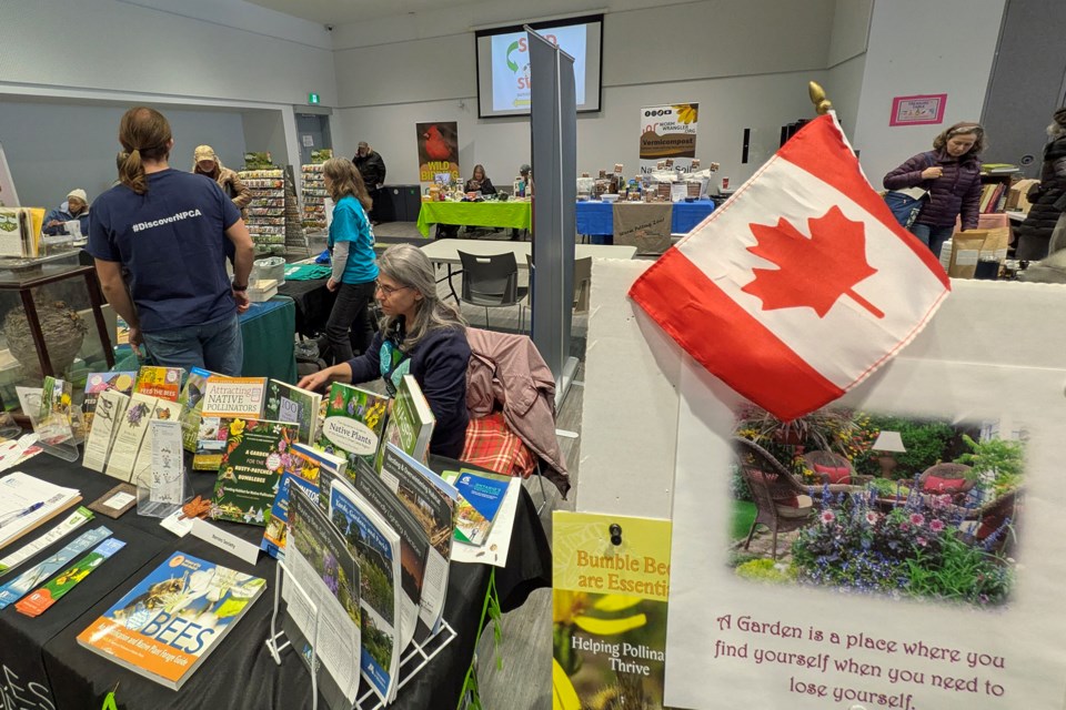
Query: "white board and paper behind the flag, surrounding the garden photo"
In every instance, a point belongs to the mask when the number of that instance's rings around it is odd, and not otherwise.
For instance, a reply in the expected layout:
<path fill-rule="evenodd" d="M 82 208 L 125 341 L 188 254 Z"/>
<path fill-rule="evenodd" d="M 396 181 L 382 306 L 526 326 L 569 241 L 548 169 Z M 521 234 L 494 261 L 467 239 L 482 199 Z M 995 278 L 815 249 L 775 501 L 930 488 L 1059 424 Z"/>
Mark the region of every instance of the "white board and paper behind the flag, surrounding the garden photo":
<path fill-rule="evenodd" d="M 1057 551 L 1066 487 L 1055 446 L 1066 420 L 1066 363 L 1059 356 L 1066 348 L 1066 290 L 953 282 L 955 293 L 928 328 L 845 400 L 863 409 L 999 420 L 1005 428 L 1027 429 L 1014 586 L 1005 606 L 979 609 L 738 579 L 727 566 L 727 437 L 736 396 L 698 366 L 685 364 L 680 348 L 654 335 L 654 323 L 625 298 L 640 271 L 604 262 L 594 267 L 593 313 L 599 305 L 606 313 L 597 317 L 625 325 L 612 332 L 615 347 L 607 348 L 604 334 L 590 321 L 584 416 L 597 416 L 601 398 L 616 406 L 614 395 L 593 389 L 600 375 L 610 373 L 614 383 L 668 383 L 660 387 L 665 392 L 656 406 L 668 408 L 673 393 L 676 418 L 661 412 L 660 426 L 648 432 L 646 416 L 634 416 L 637 409 L 631 407 L 628 419 L 615 417 L 609 434 L 589 427 L 585 437 L 593 440 L 591 456 L 582 463 L 577 508 L 657 515 L 660 491 L 676 487 L 681 494 L 667 504 L 674 545 L 665 704 L 1066 707 L 1066 649 L 1060 643 L 1066 618 L 1057 605 L 1066 571 Z M 603 291 L 610 284 L 613 293 Z M 641 410 L 646 408 L 642 404 Z M 671 422 L 674 443 L 668 445 Z M 671 460 L 671 448 L 676 479 L 673 470 L 654 463 Z M 651 465 L 640 467 L 642 462 Z M 784 629 L 798 629 L 801 638 Z M 822 640 L 811 638 L 816 632 Z"/>

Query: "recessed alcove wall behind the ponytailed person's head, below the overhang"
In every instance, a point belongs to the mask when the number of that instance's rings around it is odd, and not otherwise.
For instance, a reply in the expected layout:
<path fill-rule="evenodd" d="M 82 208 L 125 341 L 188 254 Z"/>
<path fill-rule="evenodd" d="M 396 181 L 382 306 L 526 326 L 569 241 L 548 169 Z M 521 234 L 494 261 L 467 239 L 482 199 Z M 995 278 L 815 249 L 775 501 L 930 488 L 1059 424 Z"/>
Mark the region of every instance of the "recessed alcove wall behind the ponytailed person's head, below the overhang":
<path fill-rule="evenodd" d="M 84 189 L 90 201 L 110 187 L 124 112 L 121 105 L 0 102 L 0 143 L 20 202 L 52 209 L 74 187 Z M 167 109 L 165 115 L 174 134 L 174 168 L 191 170 L 192 151 L 200 143 L 214 146 L 227 165 L 243 162 L 240 113 Z"/>

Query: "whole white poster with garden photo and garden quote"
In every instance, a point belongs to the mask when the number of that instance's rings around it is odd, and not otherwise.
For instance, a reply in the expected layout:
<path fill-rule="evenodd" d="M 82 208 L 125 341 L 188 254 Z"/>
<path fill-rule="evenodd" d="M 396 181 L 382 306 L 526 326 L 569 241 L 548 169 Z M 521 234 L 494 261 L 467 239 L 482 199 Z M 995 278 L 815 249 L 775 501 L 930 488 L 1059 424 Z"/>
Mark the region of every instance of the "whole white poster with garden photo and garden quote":
<path fill-rule="evenodd" d="M 1064 707 L 1062 373 L 952 347 L 787 427 L 685 358 L 666 706 Z"/>

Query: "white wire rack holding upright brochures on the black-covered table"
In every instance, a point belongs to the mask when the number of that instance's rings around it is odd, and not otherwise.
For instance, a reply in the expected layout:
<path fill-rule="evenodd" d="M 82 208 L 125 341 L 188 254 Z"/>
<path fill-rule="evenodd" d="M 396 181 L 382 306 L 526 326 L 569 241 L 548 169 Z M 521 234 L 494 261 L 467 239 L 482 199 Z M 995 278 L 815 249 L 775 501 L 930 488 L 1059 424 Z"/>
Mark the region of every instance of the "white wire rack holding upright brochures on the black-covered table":
<path fill-rule="evenodd" d="M 278 620 L 281 615 L 281 586 L 284 584 L 284 580 L 292 582 L 293 588 L 296 590 L 304 601 L 310 605 L 312 612 L 314 615 L 314 625 L 312 627 L 311 636 L 309 641 L 311 643 L 311 657 L 309 659 L 310 667 L 318 667 L 318 657 L 315 649 L 319 643 L 319 608 L 314 604 L 313 598 L 308 591 L 296 581 L 292 576 L 292 572 L 285 567 L 284 561 L 279 560 L 278 567 L 274 574 L 274 611 L 270 617 L 270 636 L 266 638 L 266 648 L 270 650 L 270 655 L 274 658 L 274 663 L 281 666 L 281 652 L 286 648 L 292 646 L 291 641 L 285 639 L 285 632 L 279 629 Z M 422 643 L 412 640 L 411 645 L 404 650 L 403 655 L 400 658 L 400 672 L 396 688 L 402 689 L 408 681 L 419 674 L 419 672 L 424 669 L 430 661 L 432 661 L 449 643 L 455 640 L 455 630 L 447 623 L 447 621 L 441 621 L 441 628 L 438 629 L 436 633 L 428 638 Z M 293 649 L 295 650 L 295 649 Z M 359 666 L 359 658 L 352 659 L 356 667 Z M 324 666 L 323 666 L 324 670 Z M 355 669 L 356 672 L 359 669 Z M 366 690 L 359 696 L 355 700 L 355 704 L 352 706 L 352 710 L 382 710 L 386 707 L 386 703 L 382 702 L 381 699 L 374 694 L 374 691 L 369 686 Z M 311 672 L 311 710 L 318 710 L 319 708 L 319 683 L 318 674 Z"/>

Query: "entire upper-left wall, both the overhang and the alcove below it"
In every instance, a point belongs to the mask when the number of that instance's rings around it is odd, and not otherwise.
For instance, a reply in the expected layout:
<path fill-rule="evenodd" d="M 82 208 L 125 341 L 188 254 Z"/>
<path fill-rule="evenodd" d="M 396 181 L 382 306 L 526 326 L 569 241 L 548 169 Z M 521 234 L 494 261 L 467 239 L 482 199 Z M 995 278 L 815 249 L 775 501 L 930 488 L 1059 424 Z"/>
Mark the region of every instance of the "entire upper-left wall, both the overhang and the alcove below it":
<path fill-rule="evenodd" d="M 240 168 L 245 130 L 296 162 L 293 104 L 336 95 L 330 33 L 242 0 L 6 0 L 0 47 L 0 142 L 24 204 L 109 185 L 131 105 L 170 120 L 174 166 L 210 143 Z"/>

